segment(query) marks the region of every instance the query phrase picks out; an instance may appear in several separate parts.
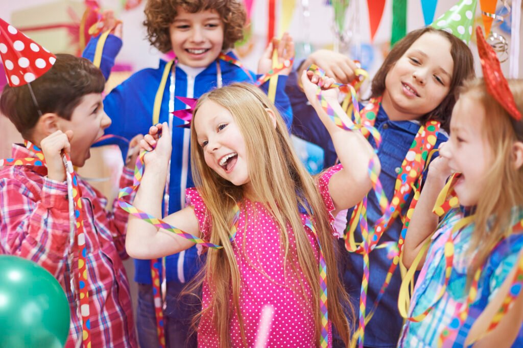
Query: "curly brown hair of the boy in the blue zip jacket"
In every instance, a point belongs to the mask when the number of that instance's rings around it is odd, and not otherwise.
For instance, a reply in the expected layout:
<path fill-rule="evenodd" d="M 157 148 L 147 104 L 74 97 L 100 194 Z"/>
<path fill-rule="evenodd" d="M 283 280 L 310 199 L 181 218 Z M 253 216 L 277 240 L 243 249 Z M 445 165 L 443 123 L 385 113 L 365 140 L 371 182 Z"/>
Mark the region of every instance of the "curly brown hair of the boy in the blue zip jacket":
<path fill-rule="evenodd" d="M 161 52 L 173 49 L 169 26 L 178 15 L 180 6 L 189 13 L 217 11 L 224 25 L 222 50 L 231 49 L 236 41 L 243 39 L 247 14 L 240 0 L 147 0 L 143 25 L 147 28 L 147 39 Z"/>

